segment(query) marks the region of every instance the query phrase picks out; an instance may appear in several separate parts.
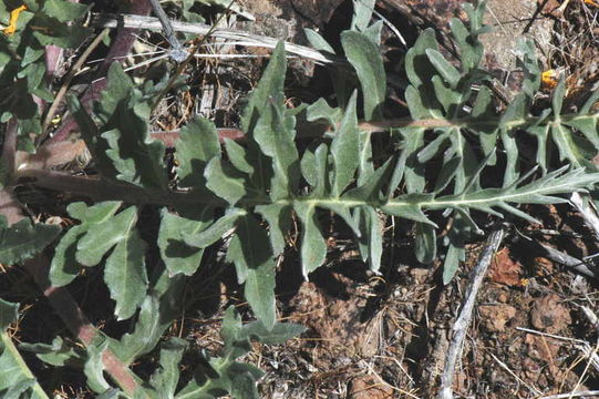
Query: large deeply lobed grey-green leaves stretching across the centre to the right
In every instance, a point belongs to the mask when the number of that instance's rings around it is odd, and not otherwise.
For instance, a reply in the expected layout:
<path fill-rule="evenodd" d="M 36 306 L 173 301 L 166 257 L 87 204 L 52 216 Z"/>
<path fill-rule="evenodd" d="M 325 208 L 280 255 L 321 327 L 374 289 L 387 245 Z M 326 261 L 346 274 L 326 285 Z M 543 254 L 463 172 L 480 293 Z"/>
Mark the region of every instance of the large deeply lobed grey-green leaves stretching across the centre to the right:
<path fill-rule="evenodd" d="M 221 153 L 214 124 L 196 119 L 182 130 L 176 145 L 177 188 L 193 194 L 197 201 L 162 212 L 158 246 L 166 269 L 172 276 L 194 274 L 204 248 L 228 235 L 226 259 L 235 265 L 247 300 L 267 328 L 276 319 L 275 259 L 286 247 L 293 215 L 301 227 L 301 268 L 306 278 L 327 256 L 319 213 L 328 211 L 345 222 L 362 258 L 375 272 L 383 254 L 383 216 L 413 222 L 419 260 L 431 263 L 438 257 L 437 249 L 446 247 L 441 256 L 445 258 L 444 280 L 448 283 L 464 259 L 465 243 L 481 231 L 471 216 L 473 209 L 530 218 L 515 205 L 561 202 L 556 194 L 585 190 L 597 182 L 598 175 L 585 157 L 595 149 L 593 143 L 599 142 L 598 116 L 590 114 L 595 96 L 577 114 L 561 114 L 564 83 L 560 83 L 552 109 L 531 115 L 529 109 L 539 85 L 539 70 L 536 59 L 525 52 L 523 93 L 505 112 L 496 112 L 485 85 L 489 76 L 479 68 L 483 45 L 478 37 L 487 31 L 482 22 L 484 3 L 464 6 L 469 17 L 467 25 L 458 19 L 451 22 L 459 62 L 444 58 L 432 30 L 424 31 L 406 53 L 405 99 L 415 123 L 394 132 L 396 147 L 401 150 L 375 164 L 371 133 L 362 132 L 358 124 L 359 115 L 366 120 L 382 117 L 386 91 L 375 34 L 379 28 L 378 23 L 364 22 L 370 20 L 368 10 L 372 11 L 368 2 L 358 7 L 354 29 L 341 35 L 345 57 L 355 71 L 353 79 L 343 78 L 343 84 L 339 85 L 337 94 L 342 106 L 333 109 L 320 100 L 308 109 L 287 109 L 283 104 L 286 59 L 279 44 L 242 115 L 241 127 L 246 133 L 242 143 L 225 141 Z M 310 34 L 323 51 L 332 50 L 316 32 Z M 521 45 L 527 50 L 529 44 Z M 168 192 L 162 160 L 164 149 L 148 135 L 151 95 L 136 89 L 117 64 L 111 68 L 109 88 L 96 105 L 95 120 L 75 100 L 71 102 L 99 171 L 105 178 Z M 333 132 L 300 154 L 296 117 L 304 110 L 309 121 L 324 121 L 333 126 Z M 537 180 L 533 180 L 534 171 L 523 170 L 524 163 L 518 162 L 516 133 L 523 131 L 539 140 L 537 160 L 543 174 Z M 547 161 L 541 162 L 550 152 L 543 137 L 549 135 L 561 160 L 570 164 L 569 170 L 551 171 Z M 482 173 L 496 168 L 498 158 L 505 165 L 503 182 L 483 186 Z M 435 165 L 441 161 L 442 166 L 437 178 L 428 182 L 425 176 L 432 161 Z M 453 219 L 442 243 L 436 239 L 436 224 L 427 216 L 436 209 Z M 85 244 L 101 234 L 95 233 L 100 228 L 97 224 L 93 233 L 86 233 L 91 234 L 89 237 L 80 233 L 91 226 L 87 223 L 76 226 L 74 233 L 71 229 L 59 244 L 53 282 L 64 284 L 76 274 L 74 263 L 64 262 L 63 254 L 69 250 L 78 263 L 93 266 L 116 245 L 106 260 L 105 279 L 116 300 L 116 315 L 131 317 L 147 288 L 143 273 L 145 245 L 133 228 L 135 214 L 130 207 L 107 221 L 102 228 L 121 234 L 111 235 L 106 231 L 112 238 L 89 253 L 84 250 Z M 116 226 L 121 219 L 123 227 Z M 132 266 L 118 269 L 121 274 L 111 280 L 113 256 Z"/>

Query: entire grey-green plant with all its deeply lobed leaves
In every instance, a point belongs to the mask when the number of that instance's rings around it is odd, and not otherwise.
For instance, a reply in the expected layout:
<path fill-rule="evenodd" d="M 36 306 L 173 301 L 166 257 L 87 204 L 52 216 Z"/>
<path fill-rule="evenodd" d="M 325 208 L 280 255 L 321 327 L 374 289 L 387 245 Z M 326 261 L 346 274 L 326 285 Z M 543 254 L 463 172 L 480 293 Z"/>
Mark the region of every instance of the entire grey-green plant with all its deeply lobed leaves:
<path fill-rule="evenodd" d="M 17 32 L 0 37 L 0 112 L 7 125 L 17 123 L 21 146 L 31 151 L 35 144 L 32 133 L 41 133 L 33 95 L 52 100 L 42 79 L 43 47 L 78 45 L 81 39 L 71 33 L 84 31 L 78 18 L 86 8 L 63 0 L 24 3 L 28 10 L 19 19 Z M 165 145 L 153 140 L 148 130 L 153 101 L 166 79 L 135 85 L 114 63 L 106 90 L 92 112 L 78 98 L 69 96 L 69 109 L 100 178 L 109 187 L 142 192 L 145 203 L 162 206 L 161 226 L 155 243 L 142 239 L 140 207 L 126 197 L 70 204 L 68 212 L 79 224 L 55 243 L 50 282 L 66 286 L 83 268 L 103 267 L 115 303 L 114 315 L 118 320 L 136 318 L 136 323 L 132 332 L 120 338 L 99 335 L 86 349 L 70 346 L 60 337 L 51 345 L 28 344 L 21 349 L 35 352 L 52 366 L 81 367 L 89 387 L 102 398 L 210 398 L 226 392 L 236 398 L 257 397 L 256 380 L 261 371 L 236 359 L 251 349 L 250 339 L 275 344 L 301 331 L 297 325 L 277 323 L 275 306 L 276 260 L 283 254 L 293 218 L 300 225 L 306 278 L 327 257 L 320 218 L 320 211 L 327 211 L 348 225 L 363 260 L 374 272 L 383 255 L 382 216 L 413 224 L 417 259 L 428 264 L 443 258 L 443 278 L 448 283 L 465 257 L 465 242 L 481 231 L 471 216 L 473 211 L 535 221 L 518 205 L 559 203 L 565 201 L 559 194 L 593 190 L 599 181 L 591 162 L 599 150 L 599 115 L 592 113 L 598 93 L 590 94 L 577 112 L 565 113 L 561 80 L 552 93 L 551 108 L 533 113 L 540 71 L 533 44 L 523 42 L 523 90 L 507 109 L 497 112 L 487 85 L 492 78 L 481 69 L 483 45 L 478 38 L 487 31 L 484 2 L 464 6 L 468 24 L 458 19 L 451 22 L 457 64 L 442 54 L 432 30 L 425 30 L 407 51 L 404 96 L 411 117 L 389 129 L 396 149 L 391 156 L 381 160 L 385 154 L 373 154 L 373 132 L 359 123 L 359 115 L 365 122 L 384 116 L 386 84 L 379 49 L 382 22 L 370 24 L 374 0 L 355 1 L 351 29 L 341 34 L 344 57 L 353 70 L 333 66 L 338 108 L 322 99 L 309 106 L 285 105 L 281 43 L 242 114 L 242 141 L 225 140 L 221 149 L 214 123 L 202 117 L 182 129 L 175 145 L 176 183 L 167 174 Z M 0 9 L 4 24 L 8 11 Z M 308 31 L 307 35 L 313 47 L 334 54 L 317 32 Z M 297 134 L 300 117 L 330 129 L 306 145 Z M 530 146 L 530 137 L 536 140 L 531 157 L 521 153 L 523 144 Z M 558 160 L 552 157 L 555 149 Z M 438 172 L 432 173 L 435 170 Z M 483 178 L 485 175 L 503 178 Z M 4 188 L 18 177 L 18 167 L 4 167 Z M 123 190 L 113 196 L 120 192 Z M 443 238 L 437 238 L 438 226 L 431 219 L 435 212 L 440 213 L 435 219 L 441 215 L 453 219 Z M 0 221 L 3 264 L 22 263 L 60 235 L 56 226 Z M 226 259 L 235 265 L 257 321 L 242 325 L 239 316 L 227 310 L 221 357 L 203 355 L 205 362 L 190 381 L 179 381 L 178 362 L 186 344 L 178 338 L 161 344 L 158 368 L 147 381 L 135 377 L 140 385 L 134 392 L 106 381 L 104 350 L 110 348 L 125 365 L 153 350 L 176 317 L 184 276 L 194 275 L 205 248 L 227 234 Z M 146 253 L 151 246 L 159 249 L 164 267 L 148 273 Z M 0 379 L 0 395 L 27 392 L 28 397 L 45 398 L 6 332 L 17 317 L 17 307 L 6 301 L 0 306 L 0 376 L 9 369 L 19 371 L 11 374 L 10 381 Z"/>

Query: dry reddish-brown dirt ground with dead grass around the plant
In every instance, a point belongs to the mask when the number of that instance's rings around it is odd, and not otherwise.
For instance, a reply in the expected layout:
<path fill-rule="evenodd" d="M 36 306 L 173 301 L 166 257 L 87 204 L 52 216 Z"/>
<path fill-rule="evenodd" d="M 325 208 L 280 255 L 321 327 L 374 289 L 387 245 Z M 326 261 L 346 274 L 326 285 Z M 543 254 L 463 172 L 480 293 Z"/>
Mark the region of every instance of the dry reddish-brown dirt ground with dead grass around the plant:
<path fill-rule="evenodd" d="M 236 28 L 287 37 L 298 43 L 304 43 L 302 28 L 318 28 L 334 41 L 351 17 L 351 2 L 343 0 L 239 1 L 256 21 L 236 22 Z M 410 43 L 425 27 L 446 33 L 448 18 L 459 14 L 458 3 L 383 0 L 378 1 L 378 11 Z M 487 22 L 494 33 L 486 39 L 489 47 L 485 66 L 502 81 L 506 99 L 521 78 L 515 64 L 515 42 L 526 35 L 536 41 L 544 70 L 566 72 L 570 101 L 576 103 L 577 94 L 598 81 L 598 13 L 599 7 L 582 0 L 489 1 Z M 386 68 L 395 73 L 397 54 L 405 49 L 386 28 L 384 38 Z M 244 78 L 235 72 L 238 64 L 233 69 L 226 63 L 206 65 L 195 76 L 204 91 L 193 100 L 192 108 L 215 117 L 220 125 L 235 123 L 236 104 L 242 98 L 239 86 L 255 84 L 264 66 L 261 61 L 242 62 Z M 331 89 L 326 75 L 308 61 L 291 62 L 288 96 L 303 101 L 327 96 Z M 399 112 L 405 114 L 405 110 Z M 173 127 L 182 114 L 175 110 L 157 123 L 163 129 Z M 599 324 L 593 316 L 599 314 L 598 284 L 543 257 L 523 236 L 579 259 L 596 254 L 598 242 L 567 205 L 527 211 L 543 225 L 513 225 L 493 260 L 456 369 L 457 398 L 543 398 L 599 389 Z M 349 234 L 338 228 L 341 223 L 328 223 L 331 234 L 327 267 L 302 282 L 292 242 L 280 266 L 279 314 L 285 320 L 303 324 L 308 330 L 283 346 L 255 347 L 247 360 L 267 371 L 260 387 L 264 397 L 434 397 L 467 275 L 477 260 L 483 238 L 469 244 L 466 265 L 453 283 L 443 286 L 442 263 L 426 268 L 419 265 L 412 255 L 411 232 L 401 224 L 389 223 L 382 274 L 372 275 L 359 260 Z M 187 338 L 195 348 L 218 350 L 221 313 L 214 309 L 235 301 L 239 287 L 230 272 L 205 284 L 209 275 L 207 270 L 188 283 L 188 310 L 171 334 Z M 106 295 L 104 288 L 93 284 L 94 278 L 99 276 L 92 272 L 92 283 L 74 288 L 74 295 L 92 320 L 100 325 L 109 320 L 107 329 L 122 328 L 110 321 L 111 309 L 94 304 L 95 296 Z M 27 298 L 31 305 L 18 337 L 48 341 L 51 334 L 61 332 L 63 327 L 53 319 L 48 305 L 31 299 L 37 294 L 27 276 L 17 273 L 11 283 L 11 295 Z M 197 284 L 206 287 L 200 294 Z M 47 326 L 45 330 L 40 326 Z M 89 397 L 81 377 L 35 367 L 43 374 L 44 386 L 56 393 Z"/>

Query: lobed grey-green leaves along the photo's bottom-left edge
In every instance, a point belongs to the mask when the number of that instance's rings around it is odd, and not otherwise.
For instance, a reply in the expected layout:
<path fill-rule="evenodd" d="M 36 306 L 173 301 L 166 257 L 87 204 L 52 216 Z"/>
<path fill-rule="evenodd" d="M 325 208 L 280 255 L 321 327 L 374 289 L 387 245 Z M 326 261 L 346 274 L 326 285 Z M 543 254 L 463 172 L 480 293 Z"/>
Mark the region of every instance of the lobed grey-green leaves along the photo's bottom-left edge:
<path fill-rule="evenodd" d="M 152 301 L 152 299 L 148 300 Z M 0 300 L 0 315 L 2 315 L 3 304 Z M 235 308 L 229 307 L 225 311 L 220 331 L 224 341 L 220 356 L 210 356 L 204 351 L 196 354 L 199 357 L 199 364 L 194 371 L 194 377 L 187 383 L 179 385 L 179 364 L 185 350 L 187 350 L 187 341 L 182 338 L 171 337 L 168 340 L 161 342 L 158 365 L 149 379 L 133 396 L 127 396 L 105 379 L 102 354 L 110 348 L 126 365 L 130 365 L 134 359 L 156 347 L 164 329 L 155 336 L 156 339 L 147 337 L 154 335 L 153 324 L 154 321 L 158 321 L 164 315 L 161 314 L 158 308 L 153 307 L 153 305 L 148 305 L 147 309 L 151 311 L 146 311 L 144 315 L 145 310 L 142 307 L 135 331 L 125 335 L 121 341 L 100 335 L 87 347 L 86 351 L 82 351 L 80 348 L 73 348 L 59 337 L 51 345 L 21 345 L 20 348 L 34 352 L 38 358 L 52 366 L 82 368 L 87 379 L 87 387 L 99 393 L 99 398 L 211 399 L 230 395 L 231 398 L 237 399 L 257 399 L 259 395 L 256 385 L 264 372 L 252 365 L 239 361 L 239 358 L 252 350 L 251 341 L 278 345 L 298 336 L 304 330 L 302 326 L 289 323 L 276 323 L 270 328 L 267 328 L 260 320 L 242 324 Z M 10 338 L 8 339 L 10 340 Z M 0 341 L 0 345 L 2 342 L 3 340 Z M 143 351 L 140 350 L 141 346 L 144 345 L 146 349 Z M 1 349 L 2 347 L 0 346 Z M 19 354 L 17 349 L 13 349 L 13 352 Z M 34 379 L 24 379 L 27 376 L 31 377 L 31 372 L 24 366 L 22 359 L 19 362 L 11 359 L 7 360 L 1 351 L 0 359 L 0 370 L 8 371 L 10 367 L 10 370 L 13 372 L 14 378 L 9 382 L 12 381 L 17 386 L 16 381 L 20 378 L 19 381 L 23 381 L 22 383 L 20 382 L 20 385 L 23 385 L 23 389 L 32 387 L 33 390 L 27 398 L 48 398 L 43 395 L 43 390 L 37 386 Z M 16 371 L 22 372 L 22 376 Z M 178 386 L 180 388 L 177 390 Z M 0 381 L 0 392 L 4 392 L 1 389 L 7 387 Z M 16 388 L 11 386 L 10 389 L 14 390 Z M 21 390 L 21 392 L 23 391 Z M 14 398 L 21 397 L 17 396 Z"/>

